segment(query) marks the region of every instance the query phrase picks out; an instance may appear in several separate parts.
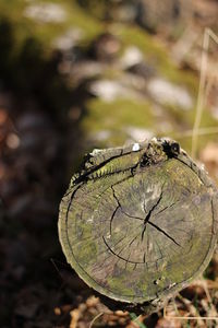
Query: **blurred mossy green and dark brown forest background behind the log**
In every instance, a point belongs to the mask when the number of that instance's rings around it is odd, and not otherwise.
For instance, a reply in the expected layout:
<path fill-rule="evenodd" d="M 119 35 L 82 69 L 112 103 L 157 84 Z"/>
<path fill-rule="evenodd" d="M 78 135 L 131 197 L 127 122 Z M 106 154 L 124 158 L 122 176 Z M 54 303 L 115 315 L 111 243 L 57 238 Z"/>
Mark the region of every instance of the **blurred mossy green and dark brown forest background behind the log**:
<path fill-rule="evenodd" d="M 216 0 L 0 0 L 2 327 L 69 327 L 90 293 L 57 236 L 84 153 L 154 136 L 191 151 L 204 28 L 218 33 L 217 16 Z M 204 128 L 217 127 L 217 47 Z M 217 140 L 201 136 L 197 148 L 215 179 Z"/>

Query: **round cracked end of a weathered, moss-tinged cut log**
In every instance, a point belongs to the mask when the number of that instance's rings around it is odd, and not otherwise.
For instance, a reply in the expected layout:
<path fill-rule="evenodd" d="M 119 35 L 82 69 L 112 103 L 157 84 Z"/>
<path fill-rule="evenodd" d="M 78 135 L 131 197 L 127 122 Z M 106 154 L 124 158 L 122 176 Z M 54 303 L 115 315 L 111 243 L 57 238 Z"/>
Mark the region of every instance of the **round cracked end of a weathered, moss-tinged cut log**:
<path fill-rule="evenodd" d="M 217 220 L 206 172 L 175 141 L 154 138 L 88 154 L 62 199 L 59 236 L 89 286 L 152 313 L 205 270 Z"/>

